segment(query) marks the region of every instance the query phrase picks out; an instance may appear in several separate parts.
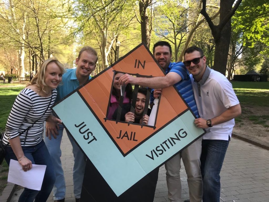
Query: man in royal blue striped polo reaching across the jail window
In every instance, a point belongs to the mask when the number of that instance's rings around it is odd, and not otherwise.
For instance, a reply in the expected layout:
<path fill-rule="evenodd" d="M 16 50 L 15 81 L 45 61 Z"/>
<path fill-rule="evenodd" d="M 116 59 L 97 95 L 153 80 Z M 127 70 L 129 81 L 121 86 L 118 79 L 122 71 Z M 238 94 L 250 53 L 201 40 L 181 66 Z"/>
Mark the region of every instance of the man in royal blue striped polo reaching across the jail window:
<path fill-rule="evenodd" d="M 157 42 L 153 46 L 153 54 L 160 66 L 164 69 L 165 76 L 142 78 L 125 74 L 119 79 L 119 84 L 132 83 L 154 88 L 151 102 L 153 102 L 154 98 L 159 97 L 163 88 L 175 85 L 195 116 L 199 118 L 189 72 L 182 62 L 171 62 L 172 48 L 170 44 L 166 41 Z M 181 199 L 179 172 L 181 168 L 180 159 L 182 158 L 187 173 L 190 202 L 201 202 L 203 196 L 203 181 L 200 170 L 201 141 L 202 139 L 199 138 L 165 163 L 168 199 L 170 201 L 179 202 Z"/>

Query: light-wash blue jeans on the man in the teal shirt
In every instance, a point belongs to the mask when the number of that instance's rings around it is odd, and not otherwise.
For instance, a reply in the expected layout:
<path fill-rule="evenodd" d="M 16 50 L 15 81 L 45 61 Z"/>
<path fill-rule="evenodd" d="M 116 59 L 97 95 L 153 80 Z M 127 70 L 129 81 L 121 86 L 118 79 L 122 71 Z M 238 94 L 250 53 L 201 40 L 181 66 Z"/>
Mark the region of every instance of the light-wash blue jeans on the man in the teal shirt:
<path fill-rule="evenodd" d="M 52 189 L 54 200 L 60 200 L 65 198 L 65 191 L 66 191 L 65 178 L 60 159 L 62 155 L 60 145 L 62 141 L 64 127 L 62 125 L 59 125 L 59 127 L 60 127 L 58 130 L 59 135 L 56 136 L 56 139 L 54 139 L 54 137 L 51 135 L 51 140 L 49 140 L 49 138 L 46 137 L 46 135 L 44 135 L 44 141 L 48 148 L 49 153 L 51 154 L 51 159 L 56 174 L 56 181 Z M 68 133 L 67 135 L 72 144 L 74 155 L 74 167 L 73 167 L 74 195 L 75 198 L 80 198 L 86 159 L 84 157 L 83 152 L 80 150 L 75 141 L 72 139 L 71 135 L 69 135 Z"/>

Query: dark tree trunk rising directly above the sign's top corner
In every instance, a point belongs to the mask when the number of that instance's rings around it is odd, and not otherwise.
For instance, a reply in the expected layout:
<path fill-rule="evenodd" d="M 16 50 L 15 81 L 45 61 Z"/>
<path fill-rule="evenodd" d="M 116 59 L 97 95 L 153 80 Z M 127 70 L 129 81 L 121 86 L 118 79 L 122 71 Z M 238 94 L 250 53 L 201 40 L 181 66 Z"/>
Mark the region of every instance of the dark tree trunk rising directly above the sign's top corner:
<path fill-rule="evenodd" d="M 150 26 L 147 13 L 147 7 L 151 4 L 150 0 L 139 1 L 139 13 L 141 18 L 141 41 L 144 42 L 148 48 L 150 48 Z"/>

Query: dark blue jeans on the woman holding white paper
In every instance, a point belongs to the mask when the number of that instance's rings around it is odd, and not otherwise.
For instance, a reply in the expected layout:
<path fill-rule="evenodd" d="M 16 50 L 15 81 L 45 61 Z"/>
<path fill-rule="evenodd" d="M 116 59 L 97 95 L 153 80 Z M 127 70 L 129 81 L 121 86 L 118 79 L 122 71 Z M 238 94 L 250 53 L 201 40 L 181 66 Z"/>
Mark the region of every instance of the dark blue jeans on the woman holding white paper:
<path fill-rule="evenodd" d="M 20 195 L 19 202 L 41 202 L 47 201 L 49 194 L 51 193 L 53 184 L 55 182 L 54 167 L 51 162 L 51 158 L 48 149 L 42 140 L 40 143 L 34 146 L 22 147 L 24 155 L 32 161 L 32 164 L 46 165 L 46 171 L 41 186 L 41 190 L 33 190 L 24 188 L 24 191 Z M 6 162 L 9 165 L 10 159 L 17 161 L 17 158 L 11 147 L 6 147 Z"/>

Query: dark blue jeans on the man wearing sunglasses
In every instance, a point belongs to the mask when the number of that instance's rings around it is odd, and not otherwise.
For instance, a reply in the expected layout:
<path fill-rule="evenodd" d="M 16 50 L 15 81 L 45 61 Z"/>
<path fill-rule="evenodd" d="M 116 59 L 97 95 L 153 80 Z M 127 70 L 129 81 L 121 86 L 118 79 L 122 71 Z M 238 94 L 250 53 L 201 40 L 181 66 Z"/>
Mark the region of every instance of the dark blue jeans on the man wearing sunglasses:
<path fill-rule="evenodd" d="M 228 145 L 227 140 L 202 141 L 203 202 L 220 201 L 220 171 Z"/>

